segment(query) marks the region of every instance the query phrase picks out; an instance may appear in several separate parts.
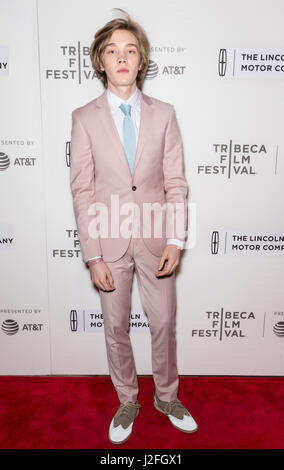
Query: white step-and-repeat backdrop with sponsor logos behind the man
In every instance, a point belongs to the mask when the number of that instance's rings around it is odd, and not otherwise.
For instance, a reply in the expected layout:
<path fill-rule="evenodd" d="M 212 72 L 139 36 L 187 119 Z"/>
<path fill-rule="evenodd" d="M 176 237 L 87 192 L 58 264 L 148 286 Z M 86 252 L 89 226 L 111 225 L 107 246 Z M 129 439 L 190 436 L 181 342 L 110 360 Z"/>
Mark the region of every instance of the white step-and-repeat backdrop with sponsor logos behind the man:
<path fill-rule="evenodd" d="M 124 8 L 151 44 L 144 93 L 172 103 L 189 183 L 180 374 L 284 374 L 282 1 L 0 1 L 0 373 L 108 374 L 69 183 L 72 111 L 104 90 L 89 46 Z M 151 336 L 134 275 L 138 374 Z"/>

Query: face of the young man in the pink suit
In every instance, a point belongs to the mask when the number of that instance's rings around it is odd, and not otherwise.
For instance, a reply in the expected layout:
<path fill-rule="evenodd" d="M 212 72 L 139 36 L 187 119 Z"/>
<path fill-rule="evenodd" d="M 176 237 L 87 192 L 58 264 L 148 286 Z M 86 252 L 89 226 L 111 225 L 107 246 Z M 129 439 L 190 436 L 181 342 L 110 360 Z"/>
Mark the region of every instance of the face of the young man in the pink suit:
<path fill-rule="evenodd" d="M 129 86 L 136 83 L 137 73 L 141 70 L 138 47 L 138 41 L 130 31 L 117 29 L 112 33 L 101 56 L 101 70 L 106 72 L 108 84 Z"/>

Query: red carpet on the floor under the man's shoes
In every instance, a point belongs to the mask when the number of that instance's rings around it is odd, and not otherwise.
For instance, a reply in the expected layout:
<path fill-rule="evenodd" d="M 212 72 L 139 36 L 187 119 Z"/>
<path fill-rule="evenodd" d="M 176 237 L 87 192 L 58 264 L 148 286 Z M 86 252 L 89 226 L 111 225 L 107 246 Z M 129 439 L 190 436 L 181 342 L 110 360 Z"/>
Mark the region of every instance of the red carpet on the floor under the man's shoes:
<path fill-rule="evenodd" d="M 119 405 L 109 376 L 0 377 L 1 449 L 283 449 L 282 377 L 180 377 L 178 398 L 199 429 L 186 434 L 153 407 L 154 382 L 138 376 L 142 408 L 125 444 L 108 441 Z"/>

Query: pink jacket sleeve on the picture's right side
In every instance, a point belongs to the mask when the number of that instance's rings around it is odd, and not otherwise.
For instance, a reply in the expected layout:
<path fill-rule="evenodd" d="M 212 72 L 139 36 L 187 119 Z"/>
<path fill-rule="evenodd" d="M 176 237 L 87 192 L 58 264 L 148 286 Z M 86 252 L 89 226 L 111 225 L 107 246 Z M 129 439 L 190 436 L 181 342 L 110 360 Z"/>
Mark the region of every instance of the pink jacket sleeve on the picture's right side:
<path fill-rule="evenodd" d="M 188 229 L 188 183 L 184 175 L 183 144 L 173 105 L 165 132 L 163 159 L 167 201 L 167 238 L 185 242 Z"/>

